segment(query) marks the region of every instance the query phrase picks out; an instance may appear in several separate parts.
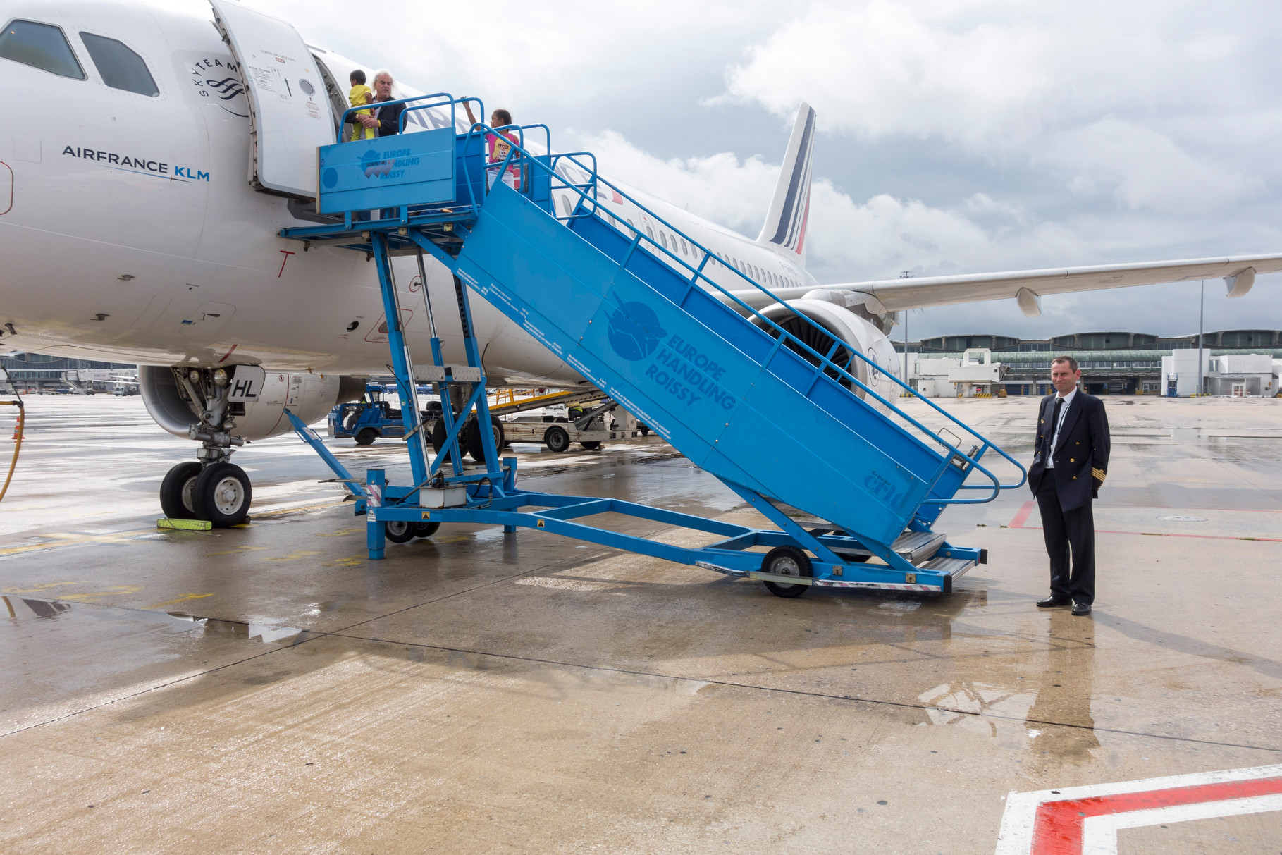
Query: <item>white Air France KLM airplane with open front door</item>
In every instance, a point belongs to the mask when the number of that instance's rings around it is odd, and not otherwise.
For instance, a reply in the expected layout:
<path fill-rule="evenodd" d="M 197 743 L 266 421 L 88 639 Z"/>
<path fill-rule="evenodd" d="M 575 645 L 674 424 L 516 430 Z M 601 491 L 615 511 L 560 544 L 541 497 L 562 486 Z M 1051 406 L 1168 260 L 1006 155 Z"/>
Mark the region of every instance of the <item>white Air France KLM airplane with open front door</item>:
<path fill-rule="evenodd" d="M 44 105 L 0 133 L 0 347 L 138 363 L 156 423 L 201 444 L 165 477 L 165 513 L 237 522 L 251 486 L 231 452 L 290 429 L 286 406 L 310 423 L 386 373 L 374 265 L 277 236 L 315 219 L 315 146 L 335 141 L 349 73 L 372 83 L 373 72 L 235 0 L 0 0 L 0 21 L 10 113 Z M 446 109 L 418 110 L 405 132 L 450 122 Z M 692 264 L 673 229 L 695 238 L 718 256 L 719 285 L 797 333 L 812 328 L 796 314 L 815 320 L 892 372 L 887 335 L 905 309 L 1015 299 L 1036 315 L 1046 294 L 1214 277 L 1241 296 L 1256 273 L 1282 269 L 1282 255 L 1259 255 L 822 285 L 805 269 L 814 132 L 803 104 L 755 240 L 641 191 L 672 228 L 613 194 L 601 205 Z M 427 361 L 422 290 L 453 305 L 453 278 L 431 259 L 426 283 L 414 259 L 395 270 L 408 344 Z M 491 385 L 586 382 L 485 301 L 473 311 Z M 437 318 L 446 360 L 462 364 L 456 319 Z"/>

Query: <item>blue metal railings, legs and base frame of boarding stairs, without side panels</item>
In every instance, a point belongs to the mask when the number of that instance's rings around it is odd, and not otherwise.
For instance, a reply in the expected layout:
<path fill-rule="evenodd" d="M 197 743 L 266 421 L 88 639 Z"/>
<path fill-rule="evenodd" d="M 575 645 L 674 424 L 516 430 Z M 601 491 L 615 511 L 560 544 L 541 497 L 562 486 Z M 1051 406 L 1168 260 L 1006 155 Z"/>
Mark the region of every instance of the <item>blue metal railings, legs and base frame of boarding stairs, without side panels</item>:
<path fill-rule="evenodd" d="M 431 101 L 429 99 L 437 100 Z M 454 108 L 460 101 L 462 99 L 453 99 L 447 95 L 437 94 L 432 96 L 419 96 L 418 99 L 404 99 L 400 103 L 415 103 L 414 106 L 406 108 L 406 113 L 410 109 L 428 109 L 449 104 L 453 118 Z M 346 118 L 346 114 L 344 118 Z M 404 120 L 405 118 L 403 114 L 403 126 Z M 481 364 L 481 353 L 478 342 L 473 335 L 472 310 L 467 294 L 468 288 L 464 287 L 463 281 L 460 281 L 460 277 L 458 276 L 460 269 L 456 253 L 459 253 L 460 246 L 467 245 L 467 241 L 472 235 L 470 229 L 477 224 L 481 210 L 486 204 L 488 194 L 477 192 L 477 187 L 485 187 L 485 170 L 495 168 L 505 170 L 510 165 L 519 164 L 523 178 L 518 192 L 533 201 L 541 210 L 550 214 L 556 220 L 564 222 L 567 226 L 573 226 L 576 220 L 599 222 L 600 224 L 612 228 L 612 233 L 617 233 L 626 240 L 627 249 L 623 251 L 622 259 L 613 259 L 614 263 L 624 270 L 628 269 L 628 264 L 633 260 L 633 258 L 640 258 L 636 255 L 636 250 L 645 244 L 644 249 L 646 250 L 645 255 L 647 258 L 653 258 L 660 264 L 667 264 L 669 268 L 673 267 L 670 261 L 676 261 L 676 267 L 678 269 L 685 269 L 688 273 L 686 285 L 682 286 L 686 288 L 687 296 L 695 292 L 718 292 L 722 295 L 722 301 L 724 304 L 737 306 L 741 313 L 753 317 L 762 326 L 773 331 L 776 340 L 770 354 L 779 353 L 781 347 L 787 346 L 790 350 L 804 356 L 805 361 L 809 363 L 814 370 L 814 381 L 812 382 L 812 386 L 814 382 L 819 382 L 823 378 L 836 377 L 837 382 L 846 386 L 847 392 L 855 392 L 858 390 L 863 394 L 863 396 L 870 396 L 873 400 L 878 401 L 890 411 L 904 419 L 918 432 L 924 433 L 931 437 L 932 441 L 944 446 L 945 452 L 942 455 L 931 452 L 938 456 L 940 464 L 938 469 L 933 474 L 933 478 L 926 479 L 926 482 L 928 482 L 926 487 L 927 495 L 919 501 L 918 506 L 942 506 L 946 504 L 974 504 L 991 501 L 1000 490 L 1018 487 L 1024 482 L 1024 478 L 1022 477 L 1018 485 L 1001 483 L 994 473 L 979 463 L 979 458 L 982 458 L 986 451 L 990 449 L 996 450 L 1003 458 L 1014 464 L 1020 470 L 1022 476 L 1023 467 L 1020 467 L 1018 461 L 1010 458 L 1005 451 L 996 447 L 986 437 L 973 431 L 959 419 L 938 408 L 936 404 L 923 399 L 929 406 L 935 408 L 950 422 L 979 440 L 979 445 L 976 450 L 969 454 L 963 454 L 912 415 L 903 411 L 896 404 L 864 385 L 853 373 L 856 358 L 867 363 L 873 370 L 882 369 L 864 354 L 858 353 L 858 349 L 851 349 L 850 358 L 838 364 L 832 359 L 833 354 L 837 351 L 836 344 L 828 354 L 819 354 L 796 338 L 792 333 L 783 329 L 782 326 L 767 318 L 762 311 L 753 309 L 735 292 L 724 288 L 709 278 L 705 269 L 717 256 L 696 241 L 691 240 L 688 236 L 683 235 L 679 229 L 674 228 L 662 217 L 646 209 L 626 191 L 600 178 L 596 172 L 595 156 L 590 153 L 554 155 L 550 151 L 550 133 L 547 135 L 549 153 L 546 155 L 535 155 L 526 150 L 523 145 L 524 131 L 533 128 L 541 128 L 547 132 L 546 126 L 510 128 L 518 131 L 520 142 L 513 144 L 508 155 L 501 162 L 496 163 L 488 163 L 485 160 L 483 146 L 485 135 L 494 133 L 499 129 L 477 123 L 472 126 L 467 133 L 456 135 L 455 162 L 460 164 L 455 179 L 458 192 L 455 194 L 455 197 L 449 201 L 447 208 L 442 206 L 438 200 L 413 206 L 403 204 L 397 209 L 399 215 L 391 219 L 354 222 L 351 212 L 346 212 L 342 222 L 332 226 L 281 229 L 281 236 L 283 237 L 304 241 L 328 240 L 340 246 L 347 246 L 354 250 L 369 253 L 378 269 L 385 317 L 387 318 L 388 349 L 392 359 L 392 369 L 403 395 L 401 414 L 405 423 L 414 485 L 409 487 L 387 485 L 385 473 L 378 469 L 369 470 L 364 485 L 360 485 L 360 482 L 354 481 L 350 474 L 347 474 L 346 469 L 344 469 L 333 458 L 333 455 L 323 447 L 323 444 L 319 442 L 319 438 L 314 435 L 314 432 L 310 432 L 305 426 L 301 426 L 296 417 L 290 414 L 291 423 L 299 435 L 309 445 L 317 449 L 320 456 L 338 474 L 338 478 L 347 486 L 347 488 L 354 495 L 360 496 L 362 501 L 358 504 L 362 505 L 362 508 L 358 509 L 358 513 L 359 510 L 367 510 L 368 513 L 367 524 L 369 558 L 379 559 L 383 556 L 386 523 L 388 522 L 468 522 L 499 524 L 504 527 L 504 531 L 514 531 L 518 526 L 551 531 L 554 533 L 577 537 L 579 540 L 601 544 L 604 546 L 641 552 L 685 564 L 699 564 L 708 567 L 709 569 L 715 569 L 733 576 L 751 576 L 754 578 L 764 578 L 767 581 L 773 579 L 782 583 L 800 582 L 804 585 L 837 587 L 891 587 L 914 591 L 949 591 L 953 581 L 951 573 L 931 570 L 924 567 L 915 567 L 897 554 L 894 545 L 876 542 L 867 537 L 855 537 L 850 532 L 841 531 L 840 528 L 808 531 L 787 514 L 782 513 L 769 496 L 758 490 L 735 483 L 724 477 L 722 477 L 722 481 L 731 490 L 745 499 L 745 501 L 750 502 L 763 515 L 778 526 L 778 531 L 733 526 L 614 499 L 558 496 L 519 490 L 517 487 L 517 460 L 514 458 L 504 460 L 499 459 L 499 449 L 495 447 L 492 433 L 488 429 L 481 429 L 478 436 L 486 465 L 483 468 L 463 467 L 460 437 L 463 436 L 463 428 L 468 423 L 469 415 L 473 410 L 476 410 L 476 424 L 487 427 L 490 423 L 490 414 L 485 394 L 486 383 Z M 479 151 L 476 150 L 477 145 L 481 146 Z M 577 170 L 581 170 L 583 179 L 576 181 L 574 176 L 564 168 L 565 164 L 570 164 Z M 478 173 L 479 181 L 477 179 Z M 614 222 L 617 220 L 614 220 L 613 217 L 608 219 L 604 215 L 604 212 L 597 206 L 596 200 L 601 187 L 608 187 L 612 192 L 627 199 L 641 210 L 646 212 L 656 223 L 662 223 L 672 232 L 683 237 L 686 242 L 695 247 L 695 250 L 700 254 L 697 267 L 686 263 L 681 256 L 669 251 L 668 247 L 656 244 L 654 238 L 650 238 L 636 228 L 628 227 L 623 223 L 619 223 L 615 227 Z M 569 214 L 558 213 L 555 210 L 551 196 L 553 190 L 567 190 L 577 194 L 578 204 Z M 322 190 L 322 195 L 323 194 L 324 190 Z M 500 209 L 503 206 L 500 205 Z M 453 232 L 453 235 L 449 236 L 449 242 L 442 240 L 447 232 Z M 400 324 L 401 315 L 399 297 L 395 286 L 395 274 L 390 260 L 394 253 L 417 253 L 420 269 L 423 253 L 428 253 L 440 260 L 446 268 L 455 272 L 455 295 L 460 322 L 463 324 L 464 349 L 468 361 L 468 370 L 465 376 L 462 368 L 451 368 L 445 364 L 441 355 L 440 340 L 436 336 L 435 319 L 432 319 L 432 308 L 429 301 L 427 304 L 428 319 L 432 323 L 432 364 L 436 368 L 433 382 L 436 383 L 436 390 L 441 395 L 442 419 L 446 433 L 446 445 L 442 447 L 442 451 L 447 452 L 438 454 L 435 459 L 431 459 L 431 455 L 428 454 L 427 437 L 424 436 L 426 432 L 423 426 L 419 423 L 419 406 L 414 383 L 414 365 Z M 733 265 L 726 264 L 726 268 L 733 270 L 736 276 L 741 277 L 750 286 L 769 294 L 767 288 L 753 281 Z M 469 285 L 473 288 L 477 288 L 477 283 L 469 282 Z M 426 288 L 424 300 L 428 300 Z M 685 305 L 685 303 L 686 300 L 677 301 L 678 305 Z M 803 320 L 813 323 L 804 317 Z M 909 388 L 894 374 L 886 372 L 882 373 L 887 374 L 901 387 Z M 467 400 L 459 408 L 451 405 L 453 403 L 450 400 L 449 388 L 451 385 L 470 387 Z M 455 413 L 455 409 L 458 410 L 458 414 Z M 906 431 L 901 426 L 897 427 L 897 429 L 904 432 L 906 436 Z M 914 442 L 919 444 L 918 440 L 914 440 Z M 924 445 L 922 445 L 922 447 L 926 449 Z M 442 464 L 446 458 L 451 461 L 451 467 L 447 472 L 444 472 Z M 962 483 L 962 481 L 964 481 L 972 472 L 978 472 L 986 476 L 991 483 Z M 945 474 L 949 476 L 947 485 L 941 481 Z M 358 490 L 358 486 L 362 486 L 363 488 Z M 464 487 L 467 497 L 465 504 L 450 508 L 433 508 L 431 506 L 433 502 L 423 501 L 426 497 L 423 491 L 440 490 L 450 486 Z M 936 495 L 933 491 L 937 488 L 944 492 Z M 982 499 L 953 497 L 953 491 L 959 488 L 986 490 L 990 491 L 991 495 Z M 583 517 L 591 517 L 601 513 L 626 514 L 672 526 L 686 527 L 695 531 L 722 535 L 723 540 L 709 546 L 687 549 L 658 544 L 628 535 L 620 535 L 618 532 L 576 522 Z M 933 514 L 910 517 L 909 528 L 928 531 L 928 524 L 933 517 L 937 515 L 937 513 L 938 511 L 936 510 Z M 927 517 L 929 517 L 929 519 L 927 519 Z M 751 550 L 754 547 L 774 547 L 783 545 L 791 545 L 808 550 L 815 556 L 815 560 L 812 561 L 813 578 L 799 581 L 796 577 L 768 577 L 759 572 L 758 568 L 762 563 L 762 554 Z M 858 550 L 860 554 L 867 554 L 879 559 L 879 561 L 850 561 L 842 559 L 840 552 L 849 552 L 850 550 Z M 958 558 L 970 561 L 982 560 L 979 550 L 956 547 L 950 544 L 944 544 L 938 554 L 946 558 Z"/>

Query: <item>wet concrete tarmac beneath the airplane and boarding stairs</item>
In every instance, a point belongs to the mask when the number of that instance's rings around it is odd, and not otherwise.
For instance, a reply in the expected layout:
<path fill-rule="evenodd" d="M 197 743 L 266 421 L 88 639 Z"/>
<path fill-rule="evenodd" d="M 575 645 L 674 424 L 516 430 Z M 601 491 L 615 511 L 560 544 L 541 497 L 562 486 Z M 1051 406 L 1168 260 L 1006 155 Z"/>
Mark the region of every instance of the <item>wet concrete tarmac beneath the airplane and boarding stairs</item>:
<path fill-rule="evenodd" d="M 1106 403 L 1097 600 L 1073 618 L 1033 606 L 1027 490 L 944 514 L 990 551 L 946 597 L 782 600 L 465 526 L 372 563 L 291 437 L 236 455 L 251 526 L 163 533 L 191 444 L 136 397 L 29 399 L 0 505 L 0 850 L 992 852 L 1013 791 L 1279 764 L 1282 401 Z M 1019 459 L 1035 405 L 946 403 Z M 515 450 L 533 488 L 760 520 L 654 440 Z M 1273 811 L 1117 851 L 1279 841 Z"/>

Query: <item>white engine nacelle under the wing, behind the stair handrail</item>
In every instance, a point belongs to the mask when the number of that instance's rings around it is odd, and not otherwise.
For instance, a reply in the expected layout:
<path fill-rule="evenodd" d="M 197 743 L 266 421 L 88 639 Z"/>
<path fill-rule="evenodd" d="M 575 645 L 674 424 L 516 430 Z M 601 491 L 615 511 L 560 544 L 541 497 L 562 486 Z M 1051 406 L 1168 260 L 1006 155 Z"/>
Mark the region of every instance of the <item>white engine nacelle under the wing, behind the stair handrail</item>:
<path fill-rule="evenodd" d="M 820 354 L 827 354 L 832 347 L 833 340 L 836 340 L 840 342 L 840 346 L 837 347 L 837 353 L 833 354 L 832 360 L 838 365 L 845 364 L 850 359 L 851 351 L 860 353 L 878 365 L 881 370 L 873 368 L 863 359 L 855 359 L 850 367 L 850 373 L 860 383 L 867 385 L 868 388 L 882 397 L 890 401 L 899 397 L 901 391 L 899 383 L 883 377 L 882 372 L 890 372 L 900 377 L 903 374 L 901 356 L 895 353 L 895 346 L 890 344 L 886 333 L 850 309 L 827 300 L 801 297 L 800 300 L 776 303 L 763 309 L 762 314 Z M 813 320 L 822 329 L 815 329 L 809 323 L 805 323 L 805 320 L 797 317 L 799 314 Z M 754 318 L 753 320 L 756 326 L 765 328 L 767 332 L 774 333 L 774 329 L 759 318 Z M 803 353 L 803 355 L 806 354 Z M 854 391 L 860 397 L 864 396 L 862 388 L 855 387 Z"/>

